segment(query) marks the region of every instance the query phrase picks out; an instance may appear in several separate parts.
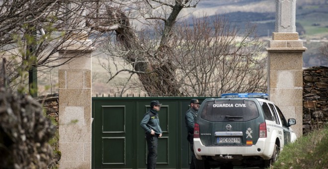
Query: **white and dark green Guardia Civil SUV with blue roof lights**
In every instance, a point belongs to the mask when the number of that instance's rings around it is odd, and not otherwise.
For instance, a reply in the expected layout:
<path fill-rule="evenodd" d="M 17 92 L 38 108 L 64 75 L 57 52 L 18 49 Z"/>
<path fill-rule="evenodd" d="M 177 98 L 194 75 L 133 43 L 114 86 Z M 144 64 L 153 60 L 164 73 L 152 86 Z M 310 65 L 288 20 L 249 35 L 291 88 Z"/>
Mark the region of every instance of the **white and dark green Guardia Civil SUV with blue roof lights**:
<path fill-rule="evenodd" d="M 194 127 L 197 169 L 269 167 L 296 140 L 281 110 L 265 93 L 228 93 L 205 99 Z M 205 163 L 204 163 L 205 162 Z"/>

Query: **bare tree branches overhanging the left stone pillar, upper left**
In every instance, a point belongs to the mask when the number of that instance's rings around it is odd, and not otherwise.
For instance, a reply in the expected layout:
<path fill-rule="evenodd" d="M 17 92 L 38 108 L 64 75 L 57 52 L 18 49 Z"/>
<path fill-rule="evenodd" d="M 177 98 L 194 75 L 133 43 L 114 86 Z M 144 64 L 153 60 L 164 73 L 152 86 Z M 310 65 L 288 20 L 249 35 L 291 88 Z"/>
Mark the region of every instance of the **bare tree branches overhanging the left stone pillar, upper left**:
<path fill-rule="evenodd" d="M 75 43 L 83 43 L 87 38 L 93 41 L 104 38 L 102 32 L 93 29 L 94 25 L 86 25 L 86 22 L 95 19 L 87 14 L 101 10 L 101 6 L 96 5 L 98 1 L 0 0 L 0 57 L 8 60 L 4 69 L 7 70 L 10 87 L 21 84 L 26 71 L 32 67 L 38 72 L 49 71 L 49 68 L 80 57 L 83 49 L 94 45 Z M 105 4 L 111 2 L 104 0 Z M 76 55 L 70 58 L 58 57 L 58 51 L 72 45 L 83 49 L 77 49 L 81 52 L 75 52 Z"/>

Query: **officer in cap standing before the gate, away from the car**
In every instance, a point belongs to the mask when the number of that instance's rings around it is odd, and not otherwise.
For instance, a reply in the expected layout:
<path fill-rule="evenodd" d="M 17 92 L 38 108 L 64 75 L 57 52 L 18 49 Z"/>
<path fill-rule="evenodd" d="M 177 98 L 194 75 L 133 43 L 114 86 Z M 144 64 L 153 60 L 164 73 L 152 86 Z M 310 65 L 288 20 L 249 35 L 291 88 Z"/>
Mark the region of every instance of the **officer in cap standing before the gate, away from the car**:
<path fill-rule="evenodd" d="M 161 109 L 158 100 L 151 101 L 150 110 L 144 115 L 140 126 L 145 130 L 148 146 L 147 169 L 155 169 L 157 162 L 158 138 L 162 137 L 158 111 Z"/>

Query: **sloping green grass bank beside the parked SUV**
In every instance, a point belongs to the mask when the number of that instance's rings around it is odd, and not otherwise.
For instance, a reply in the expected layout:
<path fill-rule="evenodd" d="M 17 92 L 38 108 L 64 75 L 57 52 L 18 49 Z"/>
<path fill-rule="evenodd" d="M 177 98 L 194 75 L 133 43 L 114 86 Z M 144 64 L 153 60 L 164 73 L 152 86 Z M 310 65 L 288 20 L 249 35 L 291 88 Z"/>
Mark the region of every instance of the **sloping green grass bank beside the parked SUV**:
<path fill-rule="evenodd" d="M 328 126 L 285 146 L 271 169 L 328 169 Z"/>

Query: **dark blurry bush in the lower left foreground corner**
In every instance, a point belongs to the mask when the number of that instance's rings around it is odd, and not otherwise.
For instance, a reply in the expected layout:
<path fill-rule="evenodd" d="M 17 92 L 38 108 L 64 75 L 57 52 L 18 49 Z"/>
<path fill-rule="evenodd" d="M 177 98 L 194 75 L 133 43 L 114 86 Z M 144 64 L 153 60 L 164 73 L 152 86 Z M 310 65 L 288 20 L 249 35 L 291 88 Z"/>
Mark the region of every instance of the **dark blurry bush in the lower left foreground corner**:
<path fill-rule="evenodd" d="M 0 168 L 46 169 L 55 130 L 39 102 L 0 87 Z"/>

